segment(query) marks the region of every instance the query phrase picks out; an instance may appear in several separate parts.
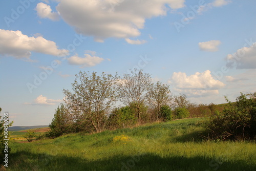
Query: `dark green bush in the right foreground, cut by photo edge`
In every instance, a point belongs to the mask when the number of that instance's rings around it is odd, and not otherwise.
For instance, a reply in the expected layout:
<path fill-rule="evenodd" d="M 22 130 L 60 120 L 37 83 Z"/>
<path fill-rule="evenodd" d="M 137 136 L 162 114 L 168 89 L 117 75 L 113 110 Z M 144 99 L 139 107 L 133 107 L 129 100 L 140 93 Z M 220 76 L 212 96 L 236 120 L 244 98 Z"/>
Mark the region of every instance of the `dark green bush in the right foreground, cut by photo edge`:
<path fill-rule="evenodd" d="M 227 98 L 223 112 L 217 112 L 203 123 L 210 139 L 255 139 L 256 99 L 254 94 L 242 94 L 231 103 Z"/>

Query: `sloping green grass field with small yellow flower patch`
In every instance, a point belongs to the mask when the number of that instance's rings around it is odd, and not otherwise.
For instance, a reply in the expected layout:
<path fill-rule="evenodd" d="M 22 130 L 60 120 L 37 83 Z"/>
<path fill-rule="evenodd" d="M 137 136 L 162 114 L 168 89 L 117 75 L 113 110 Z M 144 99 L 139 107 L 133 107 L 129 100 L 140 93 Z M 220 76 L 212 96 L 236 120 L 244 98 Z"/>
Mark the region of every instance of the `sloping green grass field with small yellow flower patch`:
<path fill-rule="evenodd" d="M 7 170 L 256 170 L 253 142 L 210 142 L 200 118 L 10 143 Z"/>

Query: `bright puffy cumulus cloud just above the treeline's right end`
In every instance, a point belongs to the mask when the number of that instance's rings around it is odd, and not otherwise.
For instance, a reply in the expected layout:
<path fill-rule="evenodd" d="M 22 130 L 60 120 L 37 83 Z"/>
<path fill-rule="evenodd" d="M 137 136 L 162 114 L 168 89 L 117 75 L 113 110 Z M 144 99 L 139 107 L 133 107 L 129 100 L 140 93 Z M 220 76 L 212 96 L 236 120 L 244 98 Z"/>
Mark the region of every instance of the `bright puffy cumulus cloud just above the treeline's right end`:
<path fill-rule="evenodd" d="M 209 70 L 190 76 L 187 76 L 186 73 L 174 72 L 168 82 L 175 87 L 176 91 L 204 96 L 218 94 L 218 90 L 225 86 L 223 82 L 215 80 Z"/>

